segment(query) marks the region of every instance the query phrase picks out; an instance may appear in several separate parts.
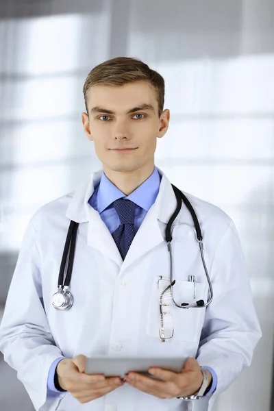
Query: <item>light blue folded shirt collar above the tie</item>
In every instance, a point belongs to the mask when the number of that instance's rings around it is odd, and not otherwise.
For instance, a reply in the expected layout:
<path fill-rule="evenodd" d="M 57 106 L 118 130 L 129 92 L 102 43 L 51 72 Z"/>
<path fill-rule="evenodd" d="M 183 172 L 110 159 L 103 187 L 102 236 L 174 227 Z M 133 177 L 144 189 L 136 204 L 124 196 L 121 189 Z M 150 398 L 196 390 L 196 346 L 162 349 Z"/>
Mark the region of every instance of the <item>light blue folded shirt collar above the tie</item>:
<path fill-rule="evenodd" d="M 101 213 L 105 208 L 110 206 L 117 199 L 128 199 L 137 204 L 137 206 L 149 211 L 152 204 L 158 196 L 161 177 L 157 167 L 154 167 L 153 173 L 145 180 L 136 190 L 126 196 L 119 188 L 108 179 L 105 173 L 102 173 L 101 181 L 97 191 L 97 211 Z"/>

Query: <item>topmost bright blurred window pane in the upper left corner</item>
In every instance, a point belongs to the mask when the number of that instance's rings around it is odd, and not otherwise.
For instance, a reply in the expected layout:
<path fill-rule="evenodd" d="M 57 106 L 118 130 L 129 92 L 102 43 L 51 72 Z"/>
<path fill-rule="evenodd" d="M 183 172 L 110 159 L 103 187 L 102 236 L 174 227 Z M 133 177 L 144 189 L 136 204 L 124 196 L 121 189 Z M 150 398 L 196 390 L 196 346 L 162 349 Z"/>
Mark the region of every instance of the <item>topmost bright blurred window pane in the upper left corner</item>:
<path fill-rule="evenodd" d="M 105 4 L 103 4 L 105 3 Z M 64 75 L 105 60 L 110 20 L 108 1 L 100 13 L 0 20 L 0 73 Z M 61 77 L 62 78 L 62 77 Z"/>

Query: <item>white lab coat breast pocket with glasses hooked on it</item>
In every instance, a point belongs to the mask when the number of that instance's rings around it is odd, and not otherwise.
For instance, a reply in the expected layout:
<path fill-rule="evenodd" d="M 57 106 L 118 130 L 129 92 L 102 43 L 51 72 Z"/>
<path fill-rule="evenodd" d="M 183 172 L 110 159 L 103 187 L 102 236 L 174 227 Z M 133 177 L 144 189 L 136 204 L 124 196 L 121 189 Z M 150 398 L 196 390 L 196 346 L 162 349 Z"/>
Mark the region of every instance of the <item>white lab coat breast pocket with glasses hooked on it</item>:
<path fill-rule="evenodd" d="M 151 287 L 149 309 L 147 313 L 146 334 L 160 338 L 160 305 L 158 299 L 158 279 L 154 277 Z M 163 278 L 169 280 L 168 278 Z M 194 284 L 188 281 L 177 280 L 173 286 L 173 299 L 178 305 L 181 303 L 194 303 L 199 299 L 207 301 L 208 284 L 196 283 L 196 299 L 194 298 Z M 173 302 L 162 308 L 163 312 L 172 315 L 174 334 L 171 340 L 197 341 L 201 335 L 205 308 L 178 308 Z"/>

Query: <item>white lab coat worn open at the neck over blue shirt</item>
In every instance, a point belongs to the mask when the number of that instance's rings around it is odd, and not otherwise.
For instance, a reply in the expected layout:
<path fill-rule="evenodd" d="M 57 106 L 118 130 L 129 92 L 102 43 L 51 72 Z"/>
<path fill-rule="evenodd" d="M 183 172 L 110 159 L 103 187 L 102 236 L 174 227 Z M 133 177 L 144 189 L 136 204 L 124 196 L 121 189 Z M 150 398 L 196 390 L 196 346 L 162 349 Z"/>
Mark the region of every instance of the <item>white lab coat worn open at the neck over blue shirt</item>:
<path fill-rule="evenodd" d="M 158 197 L 138 229 L 123 261 L 108 228 L 88 199 L 91 176 L 74 194 L 43 206 L 23 238 L 0 329 L 5 361 L 18 372 L 40 411 L 211 410 L 218 393 L 251 362 L 260 339 L 249 278 L 234 223 L 219 208 L 187 195 L 197 212 L 214 299 L 204 308 L 169 307 L 175 333 L 159 338 L 157 281 L 169 278 L 165 228 L 176 208 L 171 183 L 162 174 Z M 69 221 L 79 222 L 71 292 L 73 308 L 58 312 L 51 304 Z M 189 275 L 197 279 L 197 298 L 208 286 L 194 224 L 186 206 L 173 223 L 173 277 L 177 301 L 192 301 Z M 56 358 L 92 356 L 192 356 L 210 366 L 218 386 L 208 400 L 186 403 L 158 399 L 125 384 L 112 393 L 81 404 L 70 393 L 47 393 L 49 368 Z"/>

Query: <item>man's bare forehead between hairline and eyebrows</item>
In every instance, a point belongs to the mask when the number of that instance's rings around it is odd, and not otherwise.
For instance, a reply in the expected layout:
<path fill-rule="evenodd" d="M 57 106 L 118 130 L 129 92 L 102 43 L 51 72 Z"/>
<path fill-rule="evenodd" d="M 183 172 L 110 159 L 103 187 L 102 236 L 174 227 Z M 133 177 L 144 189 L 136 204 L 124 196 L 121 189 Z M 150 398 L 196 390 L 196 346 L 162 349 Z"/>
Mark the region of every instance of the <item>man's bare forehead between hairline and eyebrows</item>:
<path fill-rule="evenodd" d="M 134 82 L 123 86 L 96 85 L 87 93 L 88 106 L 99 105 L 110 110 L 128 110 L 140 103 L 148 103 L 157 108 L 156 92 L 149 82 Z"/>

